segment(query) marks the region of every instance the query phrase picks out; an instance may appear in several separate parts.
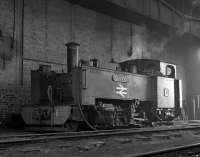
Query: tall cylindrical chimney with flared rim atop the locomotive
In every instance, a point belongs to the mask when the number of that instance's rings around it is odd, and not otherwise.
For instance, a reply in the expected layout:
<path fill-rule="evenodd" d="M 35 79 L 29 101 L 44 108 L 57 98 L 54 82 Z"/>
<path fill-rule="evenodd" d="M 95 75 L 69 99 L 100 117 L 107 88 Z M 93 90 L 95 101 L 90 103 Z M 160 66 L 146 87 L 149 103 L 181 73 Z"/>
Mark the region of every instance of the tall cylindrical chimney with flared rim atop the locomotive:
<path fill-rule="evenodd" d="M 66 43 L 67 46 L 67 70 L 71 72 L 73 68 L 79 65 L 79 46 L 80 44 L 75 42 Z"/>

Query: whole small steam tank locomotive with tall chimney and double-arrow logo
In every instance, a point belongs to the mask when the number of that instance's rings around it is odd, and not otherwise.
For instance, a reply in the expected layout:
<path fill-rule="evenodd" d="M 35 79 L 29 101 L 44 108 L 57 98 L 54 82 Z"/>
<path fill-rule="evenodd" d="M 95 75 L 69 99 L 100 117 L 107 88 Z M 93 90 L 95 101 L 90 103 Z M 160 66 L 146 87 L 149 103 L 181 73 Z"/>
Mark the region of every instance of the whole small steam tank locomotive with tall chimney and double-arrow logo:
<path fill-rule="evenodd" d="M 120 69 L 80 65 L 76 43 L 68 46 L 68 73 L 31 72 L 32 104 L 22 107 L 31 126 L 65 126 L 84 122 L 92 129 L 143 126 L 180 115 L 181 80 L 176 66 L 157 60 L 119 63 Z"/>

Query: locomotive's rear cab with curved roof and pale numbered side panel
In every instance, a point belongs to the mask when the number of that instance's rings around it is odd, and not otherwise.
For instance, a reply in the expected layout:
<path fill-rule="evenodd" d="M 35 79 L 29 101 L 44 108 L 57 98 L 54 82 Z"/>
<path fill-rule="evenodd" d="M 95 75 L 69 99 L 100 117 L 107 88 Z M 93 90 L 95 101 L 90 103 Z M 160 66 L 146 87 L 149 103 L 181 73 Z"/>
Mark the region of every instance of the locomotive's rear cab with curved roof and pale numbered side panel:
<path fill-rule="evenodd" d="M 151 102 L 154 106 L 151 112 L 154 116 L 151 115 L 150 119 L 154 117 L 162 121 L 180 116 L 182 82 L 176 78 L 176 65 L 151 59 L 128 60 L 120 65 L 124 71 L 132 72 L 135 69 L 135 73 L 151 77 Z"/>

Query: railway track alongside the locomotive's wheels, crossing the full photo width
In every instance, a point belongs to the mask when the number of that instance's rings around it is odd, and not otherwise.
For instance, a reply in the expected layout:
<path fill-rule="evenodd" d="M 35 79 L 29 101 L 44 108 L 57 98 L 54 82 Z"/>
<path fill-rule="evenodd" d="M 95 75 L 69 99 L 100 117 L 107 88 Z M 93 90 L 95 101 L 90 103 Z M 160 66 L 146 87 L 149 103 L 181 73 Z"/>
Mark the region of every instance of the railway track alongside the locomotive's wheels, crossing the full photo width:
<path fill-rule="evenodd" d="M 151 135 L 165 132 L 176 131 L 200 131 L 198 126 L 173 126 L 163 128 L 134 128 L 134 129 L 117 129 L 117 130 L 100 130 L 100 131 L 82 131 L 82 132 L 56 132 L 56 133 L 31 133 L 22 135 L 0 136 L 0 147 L 6 147 L 15 144 L 37 143 L 50 140 L 80 140 L 88 138 L 107 138 L 123 137 L 130 135 Z"/>

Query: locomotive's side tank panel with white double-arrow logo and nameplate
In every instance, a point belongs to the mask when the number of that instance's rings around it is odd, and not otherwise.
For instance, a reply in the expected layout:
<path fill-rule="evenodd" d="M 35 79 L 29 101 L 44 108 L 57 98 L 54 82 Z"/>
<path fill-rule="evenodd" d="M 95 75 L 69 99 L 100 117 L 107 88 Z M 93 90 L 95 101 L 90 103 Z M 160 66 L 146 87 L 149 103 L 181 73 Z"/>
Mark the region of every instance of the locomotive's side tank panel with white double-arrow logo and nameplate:
<path fill-rule="evenodd" d="M 95 104 L 95 98 L 149 100 L 150 78 L 125 72 L 85 67 L 82 69 L 83 105 Z"/>

